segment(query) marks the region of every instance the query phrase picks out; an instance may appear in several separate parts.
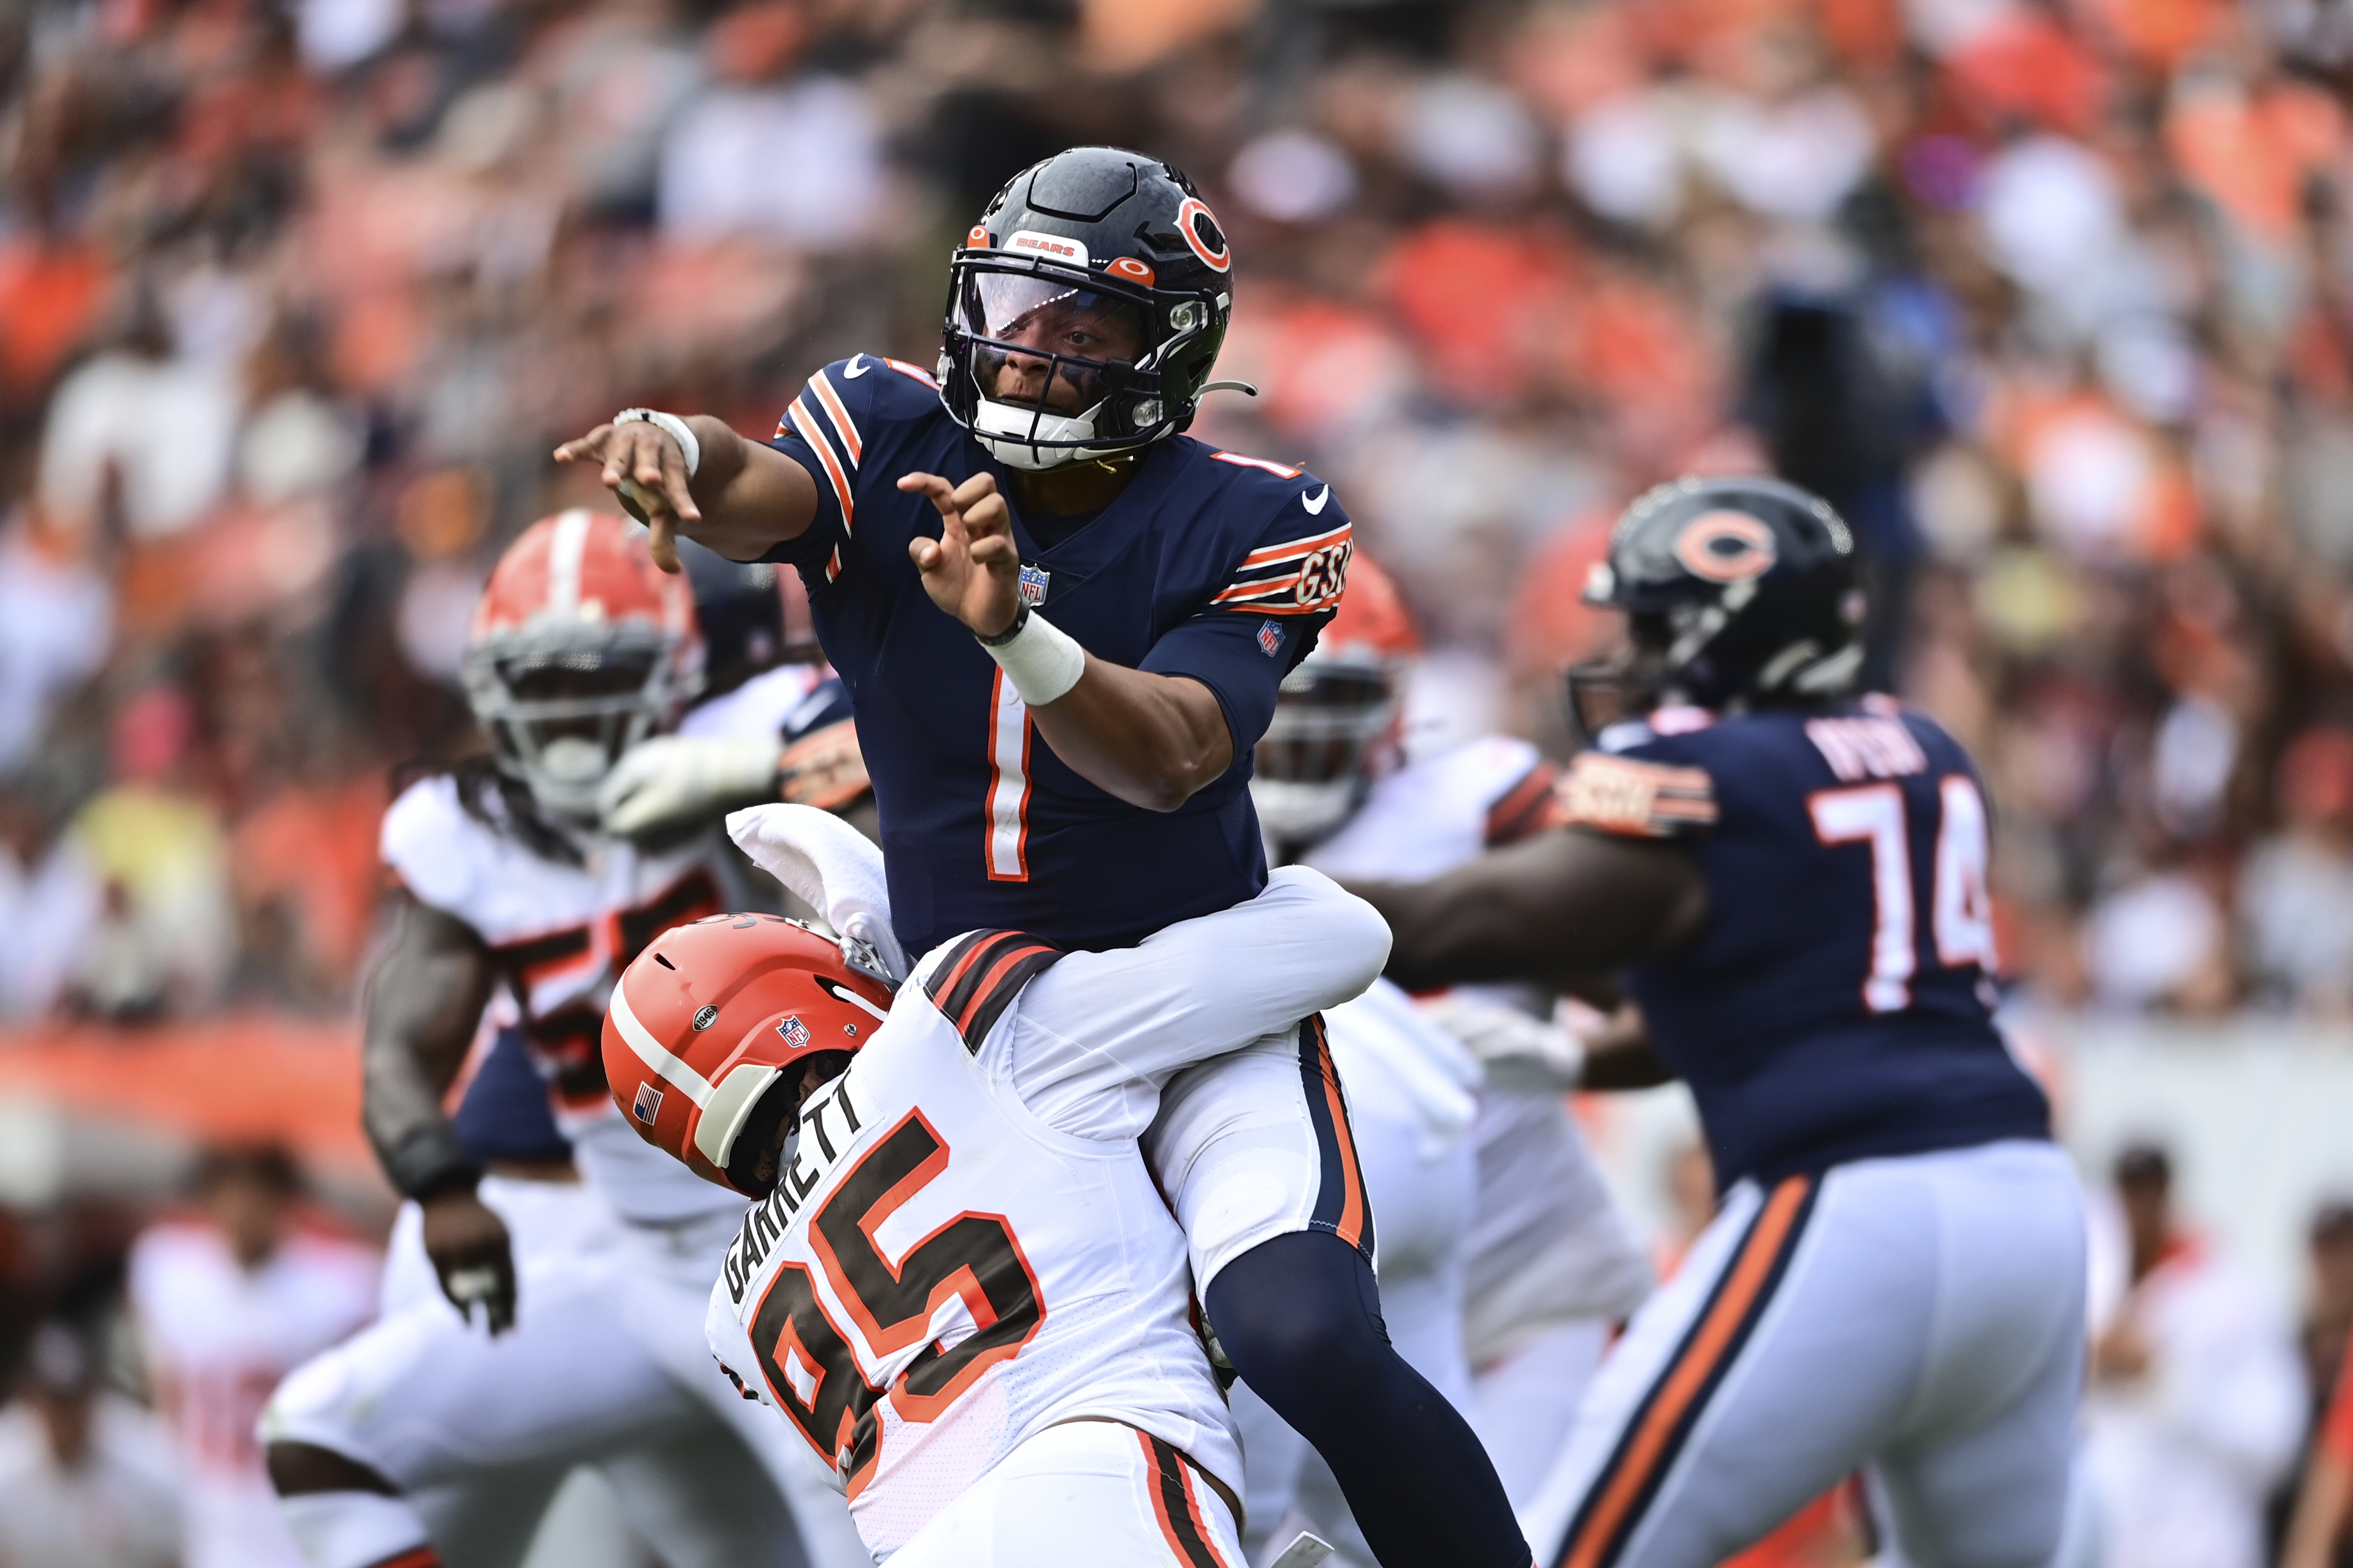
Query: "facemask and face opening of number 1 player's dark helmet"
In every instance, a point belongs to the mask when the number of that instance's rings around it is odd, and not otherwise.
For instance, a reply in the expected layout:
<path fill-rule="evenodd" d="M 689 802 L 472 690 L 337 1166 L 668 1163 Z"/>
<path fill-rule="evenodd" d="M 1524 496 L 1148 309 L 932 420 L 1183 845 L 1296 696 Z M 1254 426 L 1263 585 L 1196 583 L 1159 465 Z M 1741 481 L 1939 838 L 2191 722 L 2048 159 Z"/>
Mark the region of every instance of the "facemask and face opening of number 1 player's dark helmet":
<path fill-rule="evenodd" d="M 1191 423 L 1219 324 L 1207 296 L 962 249 L 951 266 L 941 393 L 1007 468 L 1113 456 Z"/>

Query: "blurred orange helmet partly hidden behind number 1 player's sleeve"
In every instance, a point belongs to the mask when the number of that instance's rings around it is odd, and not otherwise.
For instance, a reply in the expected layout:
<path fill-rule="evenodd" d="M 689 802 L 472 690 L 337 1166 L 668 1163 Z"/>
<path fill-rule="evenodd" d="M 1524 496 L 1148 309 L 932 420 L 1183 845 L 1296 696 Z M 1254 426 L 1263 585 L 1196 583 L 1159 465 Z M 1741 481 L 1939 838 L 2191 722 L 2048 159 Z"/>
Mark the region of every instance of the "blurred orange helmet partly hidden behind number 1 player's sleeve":
<path fill-rule="evenodd" d="M 1339 611 L 1282 677 L 1259 741 L 1249 799 L 1275 844 L 1315 844 L 1365 799 L 1384 748 L 1393 750 L 1398 693 L 1417 654 L 1421 632 L 1398 585 L 1358 550 Z"/>

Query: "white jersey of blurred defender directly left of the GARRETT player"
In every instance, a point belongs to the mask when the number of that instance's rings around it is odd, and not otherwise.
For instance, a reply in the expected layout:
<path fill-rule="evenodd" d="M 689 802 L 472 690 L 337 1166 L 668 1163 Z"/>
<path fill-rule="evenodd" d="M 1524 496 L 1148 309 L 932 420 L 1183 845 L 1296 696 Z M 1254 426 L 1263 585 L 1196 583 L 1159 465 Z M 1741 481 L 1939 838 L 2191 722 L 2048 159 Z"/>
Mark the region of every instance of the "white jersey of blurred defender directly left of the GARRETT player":
<path fill-rule="evenodd" d="M 471 816 L 456 780 L 424 778 L 384 813 L 384 865 L 419 903 L 473 929 L 522 1011 L 555 1126 L 624 1220 L 666 1225 L 739 1199 L 645 1145 L 605 1088 L 605 999 L 628 959 L 675 924 L 718 914 L 718 837 L 664 853 L 598 839 L 581 865 L 532 853 Z"/>

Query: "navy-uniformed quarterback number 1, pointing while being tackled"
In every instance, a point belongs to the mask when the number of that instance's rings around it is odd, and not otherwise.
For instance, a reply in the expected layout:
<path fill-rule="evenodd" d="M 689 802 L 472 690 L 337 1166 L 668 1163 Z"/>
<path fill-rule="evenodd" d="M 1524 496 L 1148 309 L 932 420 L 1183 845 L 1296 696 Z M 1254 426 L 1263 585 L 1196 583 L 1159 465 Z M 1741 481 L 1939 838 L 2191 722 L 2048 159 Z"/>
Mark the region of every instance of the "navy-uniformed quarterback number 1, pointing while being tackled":
<path fill-rule="evenodd" d="M 1120 947 L 1266 886 L 1249 755 L 1341 597 L 1322 480 L 1184 435 L 1233 306 L 1176 169 L 1075 148 L 948 266 L 939 376 L 852 355 L 776 437 L 626 409 L 558 449 L 654 529 L 800 569 L 856 705 L 908 952 Z M 946 611 L 946 614 L 941 614 Z M 1381 1331 L 1346 1119 L 1301 1037 L 1179 1077 L 1146 1154 L 1217 1340 L 1388 1568 L 1522 1568 L 1478 1436 Z"/>

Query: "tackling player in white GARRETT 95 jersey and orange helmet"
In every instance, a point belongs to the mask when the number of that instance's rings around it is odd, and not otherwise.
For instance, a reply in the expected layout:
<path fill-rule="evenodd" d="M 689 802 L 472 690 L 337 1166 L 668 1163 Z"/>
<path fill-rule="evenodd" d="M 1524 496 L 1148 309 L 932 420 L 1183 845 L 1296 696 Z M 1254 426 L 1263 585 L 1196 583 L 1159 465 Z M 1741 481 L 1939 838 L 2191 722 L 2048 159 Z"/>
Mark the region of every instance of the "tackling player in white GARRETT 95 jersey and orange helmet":
<path fill-rule="evenodd" d="M 831 816 L 729 830 L 835 929 L 887 900 L 880 853 Z M 1245 1568 L 1233 1422 L 1136 1138 L 1179 1070 L 1320 1037 L 1315 1009 L 1386 952 L 1369 907 L 1282 870 L 1136 947 L 972 931 L 896 999 L 868 952 L 776 917 L 680 926 L 628 966 L 614 1103 L 760 1199 L 711 1347 L 835 1467 L 875 1561 Z"/>

